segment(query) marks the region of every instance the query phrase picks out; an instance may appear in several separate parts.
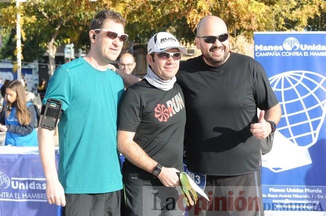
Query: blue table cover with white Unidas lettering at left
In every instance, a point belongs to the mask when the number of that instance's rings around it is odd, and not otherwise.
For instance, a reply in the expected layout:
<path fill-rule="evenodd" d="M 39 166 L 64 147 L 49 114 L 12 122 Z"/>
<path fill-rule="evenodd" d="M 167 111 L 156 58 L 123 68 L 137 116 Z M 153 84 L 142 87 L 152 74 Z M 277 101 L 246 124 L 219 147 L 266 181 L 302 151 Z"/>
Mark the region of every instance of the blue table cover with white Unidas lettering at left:
<path fill-rule="evenodd" d="M 46 180 L 38 154 L 6 154 L 32 148 L 0 147 L 0 216 L 57 216 L 57 206 L 47 201 Z M 56 153 L 59 160 L 59 153 Z"/>

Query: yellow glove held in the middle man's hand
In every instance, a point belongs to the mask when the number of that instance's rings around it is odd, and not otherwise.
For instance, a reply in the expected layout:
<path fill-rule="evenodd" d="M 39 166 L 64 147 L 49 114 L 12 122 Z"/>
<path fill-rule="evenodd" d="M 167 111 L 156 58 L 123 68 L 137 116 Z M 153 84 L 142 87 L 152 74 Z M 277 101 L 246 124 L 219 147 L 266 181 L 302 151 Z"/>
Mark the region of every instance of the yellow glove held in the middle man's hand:
<path fill-rule="evenodd" d="M 197 192 L 190 186 L 188 175 L 185 172 L 180 172 L 178 173 L 178 176 L 180 179 L 181 191 L 184 194 L 186 205 L 195 205 L 196 201 L 198 200 Z"/>

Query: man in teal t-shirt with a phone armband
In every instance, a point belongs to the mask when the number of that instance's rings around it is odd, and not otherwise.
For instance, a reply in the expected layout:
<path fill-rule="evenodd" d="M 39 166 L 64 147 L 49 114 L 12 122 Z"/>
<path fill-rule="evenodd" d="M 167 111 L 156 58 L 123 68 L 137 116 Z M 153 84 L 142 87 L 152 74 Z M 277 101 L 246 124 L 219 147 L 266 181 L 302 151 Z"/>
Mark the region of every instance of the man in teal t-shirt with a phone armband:
<path fill-rule="evenodd" d="M 39 150 L 50 204 L 63 216 L 120 216 L 122 175 L 117 152 L 117 107 L 121 77 L 108 69 L 119 56 L 125 20 L 112 10 L 90 24 L 91 49 L 84 58 L 61 65 L 52 76 L 43 104 L 61 101 L 59 175 L 53 131 L 39 128 Z M 41 113 L 41 121 L 47 113 Z"/>

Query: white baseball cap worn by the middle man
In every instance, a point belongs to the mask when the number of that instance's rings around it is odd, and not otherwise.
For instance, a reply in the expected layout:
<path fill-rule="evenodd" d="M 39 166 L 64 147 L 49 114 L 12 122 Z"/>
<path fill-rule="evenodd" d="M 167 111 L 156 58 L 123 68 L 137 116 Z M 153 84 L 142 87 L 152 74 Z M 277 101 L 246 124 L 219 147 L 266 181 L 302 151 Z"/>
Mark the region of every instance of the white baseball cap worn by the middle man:
<path fill-rule="evenodd" d="M 151 54 L 153 52 L 164 52 L 167 49 L 177 48 L 183 54 L 187 51 L 180 46 L 179 41 L 175 36 L 169 32 L 158 32 L 152 36 L 147 44 L 147 52 Z"/>

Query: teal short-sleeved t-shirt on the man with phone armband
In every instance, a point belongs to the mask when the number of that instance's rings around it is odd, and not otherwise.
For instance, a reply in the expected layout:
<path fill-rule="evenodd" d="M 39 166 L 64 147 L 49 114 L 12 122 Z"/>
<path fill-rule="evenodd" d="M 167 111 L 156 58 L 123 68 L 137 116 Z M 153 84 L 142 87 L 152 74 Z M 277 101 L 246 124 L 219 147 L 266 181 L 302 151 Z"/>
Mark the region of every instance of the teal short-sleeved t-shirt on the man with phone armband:
<path fill-rule="evenodd" d="M 117 108 L 122 78 L 83 58 L 60 66 L 43 103 L 55 98 L 64 110 L 59 130 L 59 179 L 66 194 L 100 194 L 122 189 L 117 152 Z"/>

